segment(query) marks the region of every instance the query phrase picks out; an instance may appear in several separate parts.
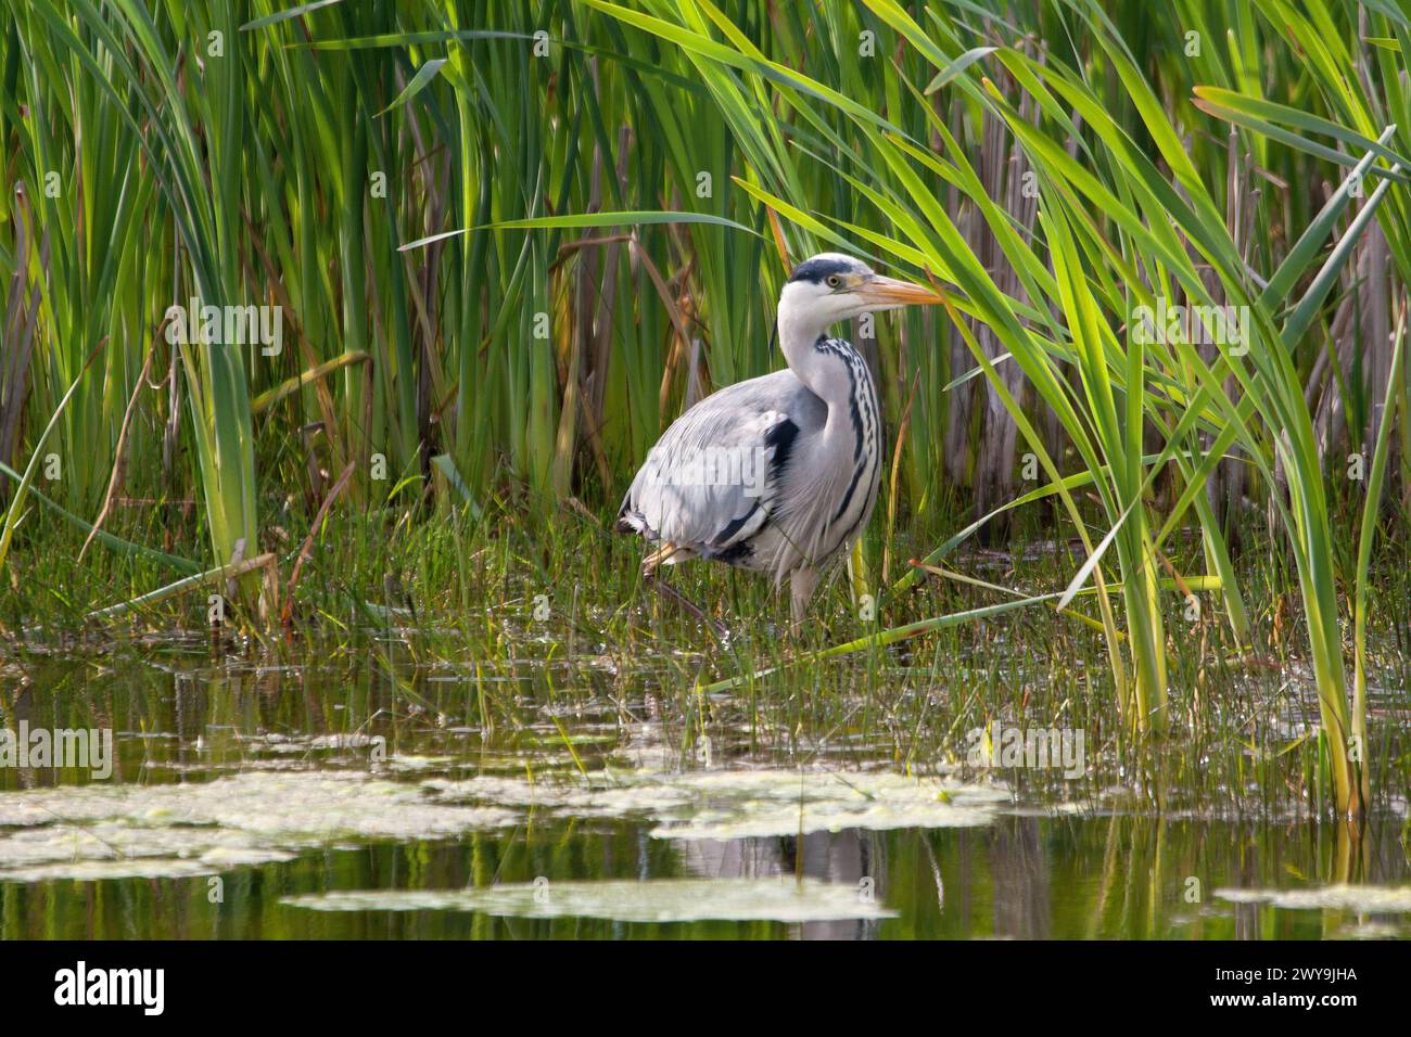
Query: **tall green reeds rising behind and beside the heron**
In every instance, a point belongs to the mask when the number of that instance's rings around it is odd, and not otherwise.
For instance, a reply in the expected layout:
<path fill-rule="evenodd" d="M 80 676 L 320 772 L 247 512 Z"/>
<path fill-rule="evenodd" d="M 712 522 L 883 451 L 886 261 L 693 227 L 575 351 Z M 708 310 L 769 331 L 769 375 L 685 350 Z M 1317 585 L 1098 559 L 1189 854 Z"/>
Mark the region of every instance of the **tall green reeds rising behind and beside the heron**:
<path fill-rule="evenodd" d="M 1257 652 L 1239 532 L 1267 512 L 1359 813 L 1379 502 L 1411 492 L 1411 23 L 1139 7 L 21 4 L 0 461 L 30 478 L 7 477 L 0 564 L 27 487 L 95 521 L 199 495 L 212 566 L 333 495 L 607 505 L 684 405 L 779 364 L 780 248 L 840 247 L 947 298 L 864 343 L 907 415 L 885 511 L 941 540 L 928 562 L 1047 501 L 1085 560 L 1044 594 L 1094 610 L 1146 738 L 1173 593 Z M 168 346 L 192 295 L 279 306 L 286 347 Z M 1136 336 L 1163 303 L 1235 306 L 1247 340 Z M 1185 532 L 1205 571 L 1175 571 Z"/>

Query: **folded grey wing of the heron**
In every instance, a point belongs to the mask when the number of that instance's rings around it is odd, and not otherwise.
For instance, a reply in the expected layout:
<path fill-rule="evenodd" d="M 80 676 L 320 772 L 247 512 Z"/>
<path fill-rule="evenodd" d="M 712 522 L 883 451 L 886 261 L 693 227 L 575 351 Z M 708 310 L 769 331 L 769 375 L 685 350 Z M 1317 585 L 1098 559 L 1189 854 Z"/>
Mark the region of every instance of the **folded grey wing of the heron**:
<path fill-rule="evenodd" d="M 707 396 L 652 447 L 622 501 L 618 529 L 731 560 L 731 549 L 769 519 L 799 439 L 825 420 L 823 401 L 792 371 Z"/>

